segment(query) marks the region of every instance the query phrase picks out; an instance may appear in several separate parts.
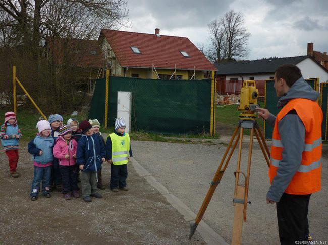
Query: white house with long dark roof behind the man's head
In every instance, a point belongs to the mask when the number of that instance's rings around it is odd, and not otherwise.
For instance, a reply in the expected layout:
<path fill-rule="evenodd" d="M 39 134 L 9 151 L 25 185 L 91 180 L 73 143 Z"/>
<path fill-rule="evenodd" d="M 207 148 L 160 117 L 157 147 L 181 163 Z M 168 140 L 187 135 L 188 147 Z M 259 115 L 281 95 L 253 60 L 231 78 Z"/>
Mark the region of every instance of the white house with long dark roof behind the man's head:
<path fill-rule="evenodd" d="M 215 64 L 216 79 L 217 81 L 273 79 L 275 70 L 283 64 L 294 64 L 299 67 L 304 79 L 319 77 L 320 83 L 328 81 L 328 70 L 309 56 L 217 63 Z"/>

